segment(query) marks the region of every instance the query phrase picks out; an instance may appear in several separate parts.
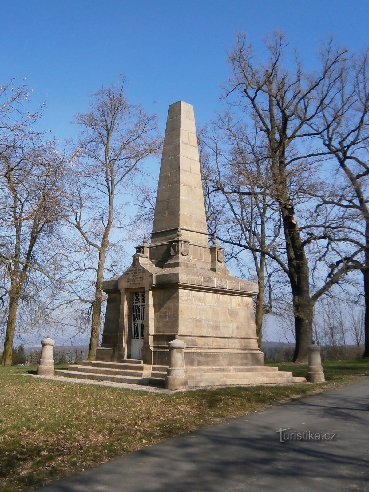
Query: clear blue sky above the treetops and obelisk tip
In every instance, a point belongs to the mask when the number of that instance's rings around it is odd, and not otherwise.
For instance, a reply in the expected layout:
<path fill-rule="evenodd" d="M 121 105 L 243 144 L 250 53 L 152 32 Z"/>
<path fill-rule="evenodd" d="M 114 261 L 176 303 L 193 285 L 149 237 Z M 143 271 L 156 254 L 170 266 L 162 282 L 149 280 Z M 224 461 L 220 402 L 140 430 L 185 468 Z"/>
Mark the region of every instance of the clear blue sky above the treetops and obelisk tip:
<path fill-rule="evenodd" d="M 34 102 L 47 96 L 42 125 L 75 136 L 73 114 L 88 94 L 127 76 L 132 102 L 155 111 L 164 131 L 168 105 L 194 105 L 197 124 L 218 109 L 236 30 L 260 53 L 269 31 L 284 30 L 307 67 L 332 34 L 352 50 L 368 44 L 368 1 L 249 0 L 3 1 L 1 80 L 27 77 Z"/>

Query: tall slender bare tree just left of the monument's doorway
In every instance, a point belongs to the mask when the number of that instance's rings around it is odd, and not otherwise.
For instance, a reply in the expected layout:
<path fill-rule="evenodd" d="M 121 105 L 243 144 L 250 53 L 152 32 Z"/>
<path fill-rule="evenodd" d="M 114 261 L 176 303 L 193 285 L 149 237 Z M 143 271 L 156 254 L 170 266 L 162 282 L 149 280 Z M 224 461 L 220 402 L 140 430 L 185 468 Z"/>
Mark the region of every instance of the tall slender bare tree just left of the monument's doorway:
<path fill-rule="evenodd" d="M 91 308 L 89 360 L 95 359 L 99 338 L 105 261 L 114 220 L 119 215 L 115 202 L 119 191 L 133 186 L 142 161 L 161 147 L 156 116 L 130 104 L 123 86 L 124 78 L 119 85 L 94 92 L 88 112 L 76 115 L 76 123 L 83 130 L 70 170 L 69 222 L 84 244 L 88 264 L 80 269 L 92 271 L 94 277 L 92 299 L 80 298 Z"/>

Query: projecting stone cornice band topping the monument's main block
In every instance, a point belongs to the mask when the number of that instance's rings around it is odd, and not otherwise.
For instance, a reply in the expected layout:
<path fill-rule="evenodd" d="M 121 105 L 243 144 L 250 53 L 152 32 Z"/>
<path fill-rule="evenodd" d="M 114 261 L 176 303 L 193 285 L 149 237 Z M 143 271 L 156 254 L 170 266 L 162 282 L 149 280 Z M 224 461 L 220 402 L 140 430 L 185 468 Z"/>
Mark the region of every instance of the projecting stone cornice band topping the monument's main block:
<path fill-rule="evenodd" d="M 249 294 L 254 296 L 258 292 L 258 286 L 254 282 L 232 277 L 228 274 L 216 273 L 202 268 L 168 268 L 157 269 L 155 285 L 164 287 L 167 285 L 179 285 L 186 288 L 200 288 L 202 290 L 224 291 L 228 293 Z"/>

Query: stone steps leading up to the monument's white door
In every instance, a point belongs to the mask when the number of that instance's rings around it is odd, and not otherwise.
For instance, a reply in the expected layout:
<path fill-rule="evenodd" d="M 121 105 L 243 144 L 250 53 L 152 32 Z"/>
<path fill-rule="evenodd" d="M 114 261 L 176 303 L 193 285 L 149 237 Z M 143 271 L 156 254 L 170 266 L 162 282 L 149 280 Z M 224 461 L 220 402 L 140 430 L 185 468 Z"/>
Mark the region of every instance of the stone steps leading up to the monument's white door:
<path fill-rule="evenodd" d="M 56 376 L 93 381 L 164 386 L 167 366 L 149 366 L 141 360 L 123 359 L 122 362 L 82 361 L 80 365 L 56 370 Z"/>

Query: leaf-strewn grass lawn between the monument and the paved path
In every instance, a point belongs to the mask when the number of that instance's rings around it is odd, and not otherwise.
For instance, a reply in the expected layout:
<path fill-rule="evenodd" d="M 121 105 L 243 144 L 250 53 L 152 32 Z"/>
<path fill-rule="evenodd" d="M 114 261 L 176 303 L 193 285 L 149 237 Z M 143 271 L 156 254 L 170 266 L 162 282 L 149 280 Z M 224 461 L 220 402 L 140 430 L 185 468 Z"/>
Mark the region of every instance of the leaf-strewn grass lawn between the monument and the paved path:
<path fill-rule="evenodd" d="M 271 364 L 273 365 L 273 364 Z M 278 365 L 305 375 L 306 366 Z M 173 395 L 33 378 L 0 367 L 0 489 L 39 487 L 172 436 L 369 374 L 369 361 L 326 363 L 328 382 Z M 347 377 L 347 374 L 350 377 Z"/>

